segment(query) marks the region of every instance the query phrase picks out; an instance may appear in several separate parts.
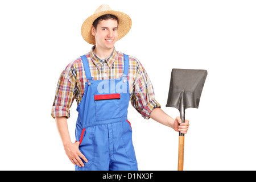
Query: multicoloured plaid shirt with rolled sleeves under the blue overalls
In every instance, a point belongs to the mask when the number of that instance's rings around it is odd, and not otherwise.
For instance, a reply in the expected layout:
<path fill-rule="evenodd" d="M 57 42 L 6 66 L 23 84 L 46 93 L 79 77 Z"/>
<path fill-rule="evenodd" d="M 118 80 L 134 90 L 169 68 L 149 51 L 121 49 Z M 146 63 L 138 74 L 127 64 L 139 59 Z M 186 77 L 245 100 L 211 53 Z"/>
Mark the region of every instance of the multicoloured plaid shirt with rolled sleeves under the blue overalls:
<path fill-rule="evenodd" d="M 115 51 L 105 60 L 98 58 L 93 52 L 93 46 L 86 53 L 90 72 L 94 80 L 121 78 L 123 73 L 123 53 Z M 145 69 L 141 63 L 129 56 L 129 74 L 127 77 L 130 89 L 131 105 L 148 119 L 152 109 L 160 107 L 155 100 L 154 89 Z M 70 117 L 69 108 L 76 99 L 77 105 L 84 95 L 86 82 L 84 66 L 81 57 L 73 60 L 61 73 L 53 101 L 51 115 L 53 118 L 65 116 Z"/>

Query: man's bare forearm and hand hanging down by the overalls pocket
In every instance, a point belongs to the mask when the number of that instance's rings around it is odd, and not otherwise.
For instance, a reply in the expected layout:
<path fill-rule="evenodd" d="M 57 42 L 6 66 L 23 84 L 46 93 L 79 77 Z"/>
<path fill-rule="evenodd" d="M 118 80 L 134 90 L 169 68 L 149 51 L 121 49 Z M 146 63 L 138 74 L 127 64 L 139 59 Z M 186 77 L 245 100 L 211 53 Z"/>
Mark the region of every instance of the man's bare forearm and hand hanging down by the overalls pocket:
<path fill-rule="evenodd" d="M 84 159 L 84 161 L 87 163 L 88 160 L 85 158 L 84 155 L 79 150 L 79 142 L 72 143 L 68 131 L 68 122 L 66 117 L 55 117 L 55 122 L 57 126 L 57 130 L 59 131 L 61 141 L 64 146 L 64 150 L 71 162 L 75 165 L 78 165 L 79 167 L 83 166 L 84 163 L 80 159 Z"/>

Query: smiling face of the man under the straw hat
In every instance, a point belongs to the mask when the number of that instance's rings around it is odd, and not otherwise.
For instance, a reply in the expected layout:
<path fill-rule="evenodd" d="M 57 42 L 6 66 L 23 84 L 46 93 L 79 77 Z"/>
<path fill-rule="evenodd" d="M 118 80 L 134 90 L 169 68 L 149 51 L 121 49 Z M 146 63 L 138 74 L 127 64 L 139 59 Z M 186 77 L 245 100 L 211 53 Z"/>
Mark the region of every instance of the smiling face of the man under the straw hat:
<path fill-rule="evenodd" d="M 102 49 L 113 49 L 117 41 L 117 20 L 108 19 L 98 22 L 97 30 L 92 27 L 92 35 L 95 37 L 96 47 Z"/>

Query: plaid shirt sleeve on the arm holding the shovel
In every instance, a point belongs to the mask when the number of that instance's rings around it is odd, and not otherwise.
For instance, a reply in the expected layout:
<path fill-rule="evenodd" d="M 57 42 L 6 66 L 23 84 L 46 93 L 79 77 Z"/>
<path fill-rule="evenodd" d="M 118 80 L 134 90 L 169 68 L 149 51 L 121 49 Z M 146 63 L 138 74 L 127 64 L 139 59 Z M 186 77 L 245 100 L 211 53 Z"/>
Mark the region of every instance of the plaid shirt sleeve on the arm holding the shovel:
<path fill-rule="evenodd" d="M 131 96 L 131 105 L 133 105 L 144 119 L 149 119 L 149 115 L 155 107 L 161 107 L 155 100 L 154 88 L 143 67 L 135 80 L 134 92 Z"/>

